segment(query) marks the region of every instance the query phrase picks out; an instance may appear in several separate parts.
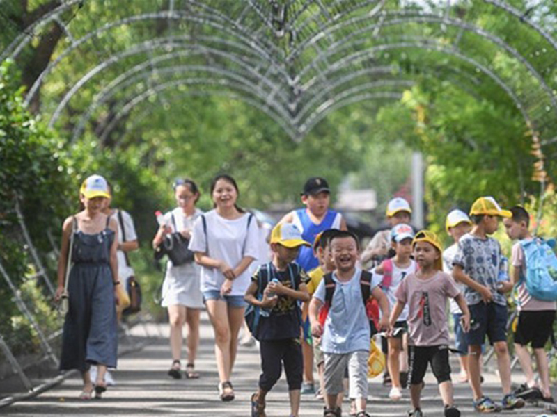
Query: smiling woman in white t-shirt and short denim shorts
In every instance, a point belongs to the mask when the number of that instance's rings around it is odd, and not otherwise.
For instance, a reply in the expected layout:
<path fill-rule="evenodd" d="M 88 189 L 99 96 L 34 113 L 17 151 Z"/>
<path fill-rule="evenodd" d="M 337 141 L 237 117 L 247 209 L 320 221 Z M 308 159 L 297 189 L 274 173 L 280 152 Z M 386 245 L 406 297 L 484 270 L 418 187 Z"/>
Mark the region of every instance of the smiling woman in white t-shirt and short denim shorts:
<path fill-rule="evenodd" d="M 189 249 L 201 265 L 201 291 L 214 329 L 220 398 L 230 401 L 234 399 L 230 374 L 244 321 L 249 265 L 259 253 L 259 234 L 253 215 L 236 204 L 238 187 L 232 177 L 215 177 L 211 197 L 214 209 L 196 220 Z"/>

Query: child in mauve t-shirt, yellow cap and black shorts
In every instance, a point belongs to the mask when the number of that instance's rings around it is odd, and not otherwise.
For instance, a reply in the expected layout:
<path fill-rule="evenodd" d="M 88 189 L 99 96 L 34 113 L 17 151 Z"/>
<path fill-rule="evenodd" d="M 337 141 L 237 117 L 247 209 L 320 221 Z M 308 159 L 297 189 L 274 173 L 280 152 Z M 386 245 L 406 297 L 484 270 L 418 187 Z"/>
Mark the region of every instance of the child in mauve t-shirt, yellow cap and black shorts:
<path fill-rule="evenodd" d="M 432 231 L 419 231 L 412 241 L 414 258 L 420 268 L 398 286 L 396 304 L 391 311 L 393 328 L 398 316 L 408 306 L 408 345 L 410 396 L 414 411 L 409 416 L 422 417 L 420 395 L 427 363 L 439 384 L 445 417 L 459 417 L 453 404 L 453 384 L 448 363 L 448 322 L 445 312 L 447 299 L 453 299 L 462 310 L 462 327 L 467 332 L 470 313 L 464 297 L 450 275 L 443 272 L 443 248 Z"/>

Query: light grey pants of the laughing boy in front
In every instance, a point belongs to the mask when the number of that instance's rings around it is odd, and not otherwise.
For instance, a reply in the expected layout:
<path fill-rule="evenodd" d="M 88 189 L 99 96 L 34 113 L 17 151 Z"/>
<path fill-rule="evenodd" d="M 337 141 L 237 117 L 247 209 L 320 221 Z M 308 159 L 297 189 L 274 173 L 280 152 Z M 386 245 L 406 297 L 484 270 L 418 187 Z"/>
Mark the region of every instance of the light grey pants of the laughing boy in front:
<path fill-rule="evenodd" d="M 325 393 L 336 395 L 344 391 L 343 377 L 348 367 L 350 398 L 368 398 L 369 354 L 367 350 L 344 354 L 325 353 Z"/>

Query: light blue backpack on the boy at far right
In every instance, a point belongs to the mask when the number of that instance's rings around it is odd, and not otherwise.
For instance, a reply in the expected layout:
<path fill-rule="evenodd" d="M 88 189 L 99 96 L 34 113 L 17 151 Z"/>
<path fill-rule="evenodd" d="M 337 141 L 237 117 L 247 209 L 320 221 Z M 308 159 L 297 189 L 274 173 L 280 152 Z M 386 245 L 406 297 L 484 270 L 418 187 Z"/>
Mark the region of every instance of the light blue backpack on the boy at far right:
<path fill-rule="evenodd" d="M 555 240 L 537 237 L 521 240 L 520 245 L 526 260 L 526 290 L 537 300 L 557 301 L 557 256 L 551 248 Z"/>

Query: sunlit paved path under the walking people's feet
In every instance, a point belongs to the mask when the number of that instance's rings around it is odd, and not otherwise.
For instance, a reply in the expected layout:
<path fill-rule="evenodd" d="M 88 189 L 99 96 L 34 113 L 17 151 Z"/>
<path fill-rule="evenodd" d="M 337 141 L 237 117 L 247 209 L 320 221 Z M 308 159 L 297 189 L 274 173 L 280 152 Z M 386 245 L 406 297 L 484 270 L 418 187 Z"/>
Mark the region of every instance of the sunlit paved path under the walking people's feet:
<path fill-rule="evenodd" d="M 151 329 L 153 332 L 154 329 Z M 142 329 L 136 329 L 141 332 Z M 162 326 L 162 336 L 168 334 L 168 327 Z M 138 333 L 138 337 L 142 335 Z M 38 398 L 17 402 L 2 409 L 0 414 L 13 416 L 249 416 L 249 398 L 256 389 L 259 355 L 256 347 L 240 347 L 233 383 L 236 400 L 231 403 L 219 401 L 217 396 L 217 368 L 214 363 L 212 329 L 203 316 L 201 329 L 200 358 L 196 364 L 202 373 L 201 379 L 173 380 L 166 375 L 171 363 L 168 343 L 164 337 L 152 339 L 152 343 L 139 352 L 120 358 L 118 370 L 114 373 L 117 386 L 104 394 L 102 400 L 81 401 L 77 399 L 81 391 L 77 377 L 67 379 L 63 384 Z M 492 398 L 500 400 L 501 390 L 497 377 L 486 375 L 485 391 Z M 521 382 L 515 377 L 515 382 Z M 368 411 L 372 416 L 405 416 L 409 409 L 408 393 L 401 402 L 391 402 L 387 398 L 388 389 L 379 381 L 370 384 Z M 463 416 L 477 416 L 471 407 L 471 391 L 467 385 L 455 386 L 455 401 Z M 283 380 L 269 394 L 268 416 L 288 416 L 288 394 Z M 345 416 L 347 416 L 345 404 Z M 423 398 L 426 416 L 442 416 L 441 400 L 437 385 L 431 374 L 426 377 Z M 527 406 L 520 411 L 501 413 L 509 416 L 538 416 L 541 408 Z M 322 403 L 311 396 L 304 396 L 301 416 L 322 416 Z"/>

